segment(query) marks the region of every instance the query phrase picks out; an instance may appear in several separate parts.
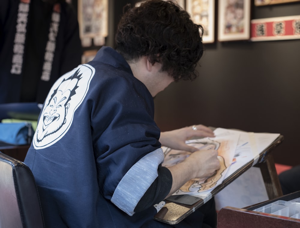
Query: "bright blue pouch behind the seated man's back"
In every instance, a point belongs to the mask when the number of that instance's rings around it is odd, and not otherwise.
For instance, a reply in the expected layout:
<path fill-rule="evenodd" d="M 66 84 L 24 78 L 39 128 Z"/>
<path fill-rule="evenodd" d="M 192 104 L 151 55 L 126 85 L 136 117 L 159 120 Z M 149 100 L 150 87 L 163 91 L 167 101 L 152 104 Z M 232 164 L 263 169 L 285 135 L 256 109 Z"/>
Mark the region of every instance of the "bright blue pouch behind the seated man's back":
<path fill-rule="evenodd" d="M 0 141 L 13 145 L 28 145 L 33 137 L 32 125 L 28 122 L 0 123 Z"/>

